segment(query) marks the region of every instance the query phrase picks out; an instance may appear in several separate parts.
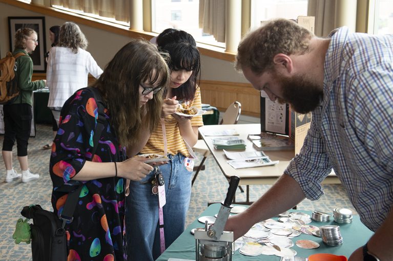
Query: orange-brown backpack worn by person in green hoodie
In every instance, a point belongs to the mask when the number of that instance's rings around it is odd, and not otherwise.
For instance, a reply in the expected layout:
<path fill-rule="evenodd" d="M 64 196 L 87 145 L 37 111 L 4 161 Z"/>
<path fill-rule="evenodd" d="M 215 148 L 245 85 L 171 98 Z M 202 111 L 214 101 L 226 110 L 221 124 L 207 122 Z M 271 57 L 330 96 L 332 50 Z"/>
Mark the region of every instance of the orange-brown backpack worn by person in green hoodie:
<path fill-rule="evenodd" d="M 0 60 L 0 104 L 10 104 L 19 95 L 19 88 L 15 79 L 16 58 L 26 55 L 17 53 L 12 56 L 10 52 Z"/>

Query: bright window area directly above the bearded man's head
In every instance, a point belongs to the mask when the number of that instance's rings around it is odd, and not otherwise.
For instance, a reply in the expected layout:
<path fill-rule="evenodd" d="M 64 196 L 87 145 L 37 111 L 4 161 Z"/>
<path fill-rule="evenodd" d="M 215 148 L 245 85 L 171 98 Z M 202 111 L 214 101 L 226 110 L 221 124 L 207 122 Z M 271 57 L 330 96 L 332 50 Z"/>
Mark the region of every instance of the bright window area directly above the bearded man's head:
<path fill-rule="evenodd" d="M 297 19 L 307 15 L 307 0 L 253 0 L 251 3 L 251 27 L 273 18 Z"/>

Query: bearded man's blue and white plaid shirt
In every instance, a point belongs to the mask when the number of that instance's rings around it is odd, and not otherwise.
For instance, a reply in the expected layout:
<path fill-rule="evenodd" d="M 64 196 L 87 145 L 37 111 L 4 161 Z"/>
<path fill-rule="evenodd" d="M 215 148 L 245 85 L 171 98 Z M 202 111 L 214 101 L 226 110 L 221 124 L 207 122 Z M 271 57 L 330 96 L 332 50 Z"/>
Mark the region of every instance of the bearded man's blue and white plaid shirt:
<path fill-rule="evenodd" d="M 375 231 L 393 203 L 393 35 L 343 27 L 330 37 L 323 101 L 285 174 L 316 200 L 333 168 L 361 221 Z"/>

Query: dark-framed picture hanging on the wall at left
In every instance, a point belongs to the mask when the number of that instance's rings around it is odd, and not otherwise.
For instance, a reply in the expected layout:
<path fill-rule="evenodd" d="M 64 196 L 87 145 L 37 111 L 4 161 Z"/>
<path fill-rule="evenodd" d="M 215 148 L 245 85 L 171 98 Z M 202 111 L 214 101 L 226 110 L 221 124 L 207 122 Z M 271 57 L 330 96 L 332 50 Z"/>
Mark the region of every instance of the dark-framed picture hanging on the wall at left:
<path fill-rule="evenodd" d="M 10 51 L 15 49 L 15 32 L 20 28 L 31 28 L 37 32 L 38 45 L 30 54 L 33 60 L 33 71 L 35 73 L 45 72 L 46 37 L 44 16 L 8 16 L 8 32 L 10 39 Z"/>

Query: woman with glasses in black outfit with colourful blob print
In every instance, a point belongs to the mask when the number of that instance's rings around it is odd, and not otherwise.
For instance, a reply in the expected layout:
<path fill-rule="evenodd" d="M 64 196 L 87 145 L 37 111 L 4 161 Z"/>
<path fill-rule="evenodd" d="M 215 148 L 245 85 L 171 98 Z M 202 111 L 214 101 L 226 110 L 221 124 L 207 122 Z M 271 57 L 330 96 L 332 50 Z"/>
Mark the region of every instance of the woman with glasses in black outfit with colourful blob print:
<path fill-rule="evenodd" d="M 50 159 L 54 213 L 61 215 L 67 198 L 59 190 L 82 185 L 73 221 L 66 225 L 68 260 L 127 259 L 124 185 L 153 170 L 146 158 L 133 156 L 159 124 L 162 87 L 168 83 L 168 65 L 154 44 L 137 39 L 123 46 L 92 84 L 106 117 L 93 157 L 99 109 L 92 91 L 77 90 L 61 109 Z"/>

